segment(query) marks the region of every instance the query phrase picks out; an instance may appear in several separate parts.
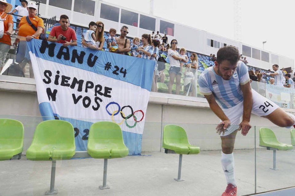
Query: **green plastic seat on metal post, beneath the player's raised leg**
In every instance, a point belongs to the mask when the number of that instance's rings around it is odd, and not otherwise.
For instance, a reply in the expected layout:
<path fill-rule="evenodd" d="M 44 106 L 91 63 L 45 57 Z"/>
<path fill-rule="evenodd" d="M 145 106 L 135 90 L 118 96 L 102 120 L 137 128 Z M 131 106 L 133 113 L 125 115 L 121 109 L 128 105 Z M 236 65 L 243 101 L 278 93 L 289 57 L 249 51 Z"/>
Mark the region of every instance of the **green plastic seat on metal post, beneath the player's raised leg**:
<path fill-rule="evenodd" d="M 292 145 L 281 143 L 277 140 L 273 130 L 267 127 L 259 129 L 259 146 L 266 147 L 267 150 L 273 150 L 273 170 L 276 169 L 276 151 L 277 150 L 291 150 Z"/>

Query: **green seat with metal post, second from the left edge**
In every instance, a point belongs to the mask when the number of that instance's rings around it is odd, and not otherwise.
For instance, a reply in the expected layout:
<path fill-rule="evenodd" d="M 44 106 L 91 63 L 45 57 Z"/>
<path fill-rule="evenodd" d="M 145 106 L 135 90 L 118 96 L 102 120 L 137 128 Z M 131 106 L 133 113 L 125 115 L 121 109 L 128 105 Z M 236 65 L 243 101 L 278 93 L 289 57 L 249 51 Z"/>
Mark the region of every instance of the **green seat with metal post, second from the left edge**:
<path fill-rule="evenodd" d="M 70 159 L 75 154 L 73 125 L 63 120 L 47 120 L 36 127 L 33 141 L 26 152 L 29 160 L 51 160 L 50 190 L 47 194 L 57 194 L 54 190 L 56 160 Z"/>

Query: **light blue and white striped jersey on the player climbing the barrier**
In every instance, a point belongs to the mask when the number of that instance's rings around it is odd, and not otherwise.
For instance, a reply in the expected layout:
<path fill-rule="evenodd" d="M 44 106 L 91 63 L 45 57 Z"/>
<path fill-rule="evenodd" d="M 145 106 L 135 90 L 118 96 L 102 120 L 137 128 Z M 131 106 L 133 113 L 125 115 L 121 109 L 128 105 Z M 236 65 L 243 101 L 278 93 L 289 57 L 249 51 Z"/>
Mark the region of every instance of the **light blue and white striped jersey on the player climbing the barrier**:
<path fill-rule="evenodd" d="M 208 67 L 200 75 L 198 79 L 200 92 L 204 95 L 213 93 L 216 101 L 224 109 L 241 103 L 244 100 L 241 85 L 250 81 L 245 63 L 238 62 L 237 69 L 230 80 L 224 80 L 221 76 L 218 76 L 213 69 L 214 67 Z"/>

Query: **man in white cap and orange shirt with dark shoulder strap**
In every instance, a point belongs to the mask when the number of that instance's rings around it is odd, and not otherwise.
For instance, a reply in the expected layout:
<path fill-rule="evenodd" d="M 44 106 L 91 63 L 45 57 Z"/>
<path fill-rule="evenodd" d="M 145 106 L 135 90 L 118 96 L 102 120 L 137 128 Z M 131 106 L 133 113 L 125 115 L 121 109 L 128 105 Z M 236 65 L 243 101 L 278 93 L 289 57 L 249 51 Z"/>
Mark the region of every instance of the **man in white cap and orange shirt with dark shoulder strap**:
<path fill-rule="evenodd" d="M 13 45 L 17 46 L 19 42 L 18 53 L 16 55 L 15 60 L 19 63 L 22 69 L 25 68 L 27 62 L 30 64 L 28 50 L 26 47 L 26 41 L 30 41 L 33 38 L 39 39 L 39 36 L 41 35 L 44 29 L 44 23 L 42 18 L 36 16 L 37 5 L 34 3 L 29 3 L 27 9 L 29 12 L 29 20 L 31 21 L 32 25 L 34 25 L 37 28 L 37 31 L 35 31 L 33 27 L 29 25 L 26 16 L 23 16 L 21 18 L 21 21 L 19 22 L 18 39 L 15 39 Z M 34 74 L 31 64 L 29 66 L 29 72 L 30 77 L 33 78 Z"/>

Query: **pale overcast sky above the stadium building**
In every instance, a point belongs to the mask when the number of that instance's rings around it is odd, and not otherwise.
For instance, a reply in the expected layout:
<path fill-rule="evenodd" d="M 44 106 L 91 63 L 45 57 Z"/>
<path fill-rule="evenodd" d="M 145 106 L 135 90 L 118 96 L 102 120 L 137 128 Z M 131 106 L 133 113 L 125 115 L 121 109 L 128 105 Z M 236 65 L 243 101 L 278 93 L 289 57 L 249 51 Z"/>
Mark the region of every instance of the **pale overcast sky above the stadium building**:
<path fill-rule="evenodd" d="M 150 0 L 103 0 L 150 13 Z M 240 0 L 241 42 L 294 59 L 293 1 Z M 234 0 L 154 0 L 154 15 L 235 40 Z"/>

